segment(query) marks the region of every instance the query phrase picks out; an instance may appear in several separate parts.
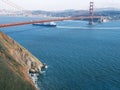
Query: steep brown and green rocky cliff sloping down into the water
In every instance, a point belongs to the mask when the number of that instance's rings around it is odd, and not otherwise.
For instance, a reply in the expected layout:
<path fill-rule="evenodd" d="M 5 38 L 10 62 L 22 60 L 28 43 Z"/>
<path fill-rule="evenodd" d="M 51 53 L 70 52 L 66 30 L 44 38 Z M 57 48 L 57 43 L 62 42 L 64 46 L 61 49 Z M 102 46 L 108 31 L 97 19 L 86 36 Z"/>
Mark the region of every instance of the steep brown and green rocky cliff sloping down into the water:
<path fill-rule="evenodd" d="M 28 73 L 42 67 L 36 57 L 0 32 L 0 90 L 36 90 Z"/>

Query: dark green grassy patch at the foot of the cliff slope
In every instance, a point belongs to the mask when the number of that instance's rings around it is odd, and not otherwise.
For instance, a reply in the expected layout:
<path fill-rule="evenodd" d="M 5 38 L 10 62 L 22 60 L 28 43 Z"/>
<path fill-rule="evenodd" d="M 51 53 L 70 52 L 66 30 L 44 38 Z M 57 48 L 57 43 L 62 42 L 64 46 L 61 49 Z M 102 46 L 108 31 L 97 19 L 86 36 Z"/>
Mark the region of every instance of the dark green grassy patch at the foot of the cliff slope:
<path fill-rule="evenodd" d="M 6 59 L 0 57 L 0 90 L 35 90 L 35 87 L 15 74 L 6 63 Z"/>

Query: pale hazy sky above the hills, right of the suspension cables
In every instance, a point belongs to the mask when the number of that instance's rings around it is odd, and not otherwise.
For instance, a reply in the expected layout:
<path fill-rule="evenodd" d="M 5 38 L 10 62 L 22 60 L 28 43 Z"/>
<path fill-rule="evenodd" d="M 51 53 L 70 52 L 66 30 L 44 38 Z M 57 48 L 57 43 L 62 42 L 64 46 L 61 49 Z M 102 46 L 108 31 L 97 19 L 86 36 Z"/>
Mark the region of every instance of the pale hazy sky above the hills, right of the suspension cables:
<path fill-rule="evenodd" d="M 88 9 L 89 2 L 94 1 L 95 8 L 120 8 L 120 0 L 8 0 L 29 10 L 64 10 Z"/>

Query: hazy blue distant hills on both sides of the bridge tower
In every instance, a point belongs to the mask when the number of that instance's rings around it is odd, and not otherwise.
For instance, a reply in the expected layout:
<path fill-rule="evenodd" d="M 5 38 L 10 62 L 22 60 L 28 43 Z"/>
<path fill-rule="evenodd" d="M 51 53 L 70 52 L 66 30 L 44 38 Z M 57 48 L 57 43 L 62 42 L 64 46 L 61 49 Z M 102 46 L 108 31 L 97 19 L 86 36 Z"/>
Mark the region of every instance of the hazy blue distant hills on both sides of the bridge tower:
<path fill-rule="evenodd" d="M 46 15 L 51 17 L 74 17 L 74 16 L 88 16 L 88 10 L 63 10 L 63 11 L 32 11 L 34 15 Z M 120 9 L 116 8 L 98 8 L 94 10 L 94 15 L 110 16 L 113 19 L 120 19 Z"/>

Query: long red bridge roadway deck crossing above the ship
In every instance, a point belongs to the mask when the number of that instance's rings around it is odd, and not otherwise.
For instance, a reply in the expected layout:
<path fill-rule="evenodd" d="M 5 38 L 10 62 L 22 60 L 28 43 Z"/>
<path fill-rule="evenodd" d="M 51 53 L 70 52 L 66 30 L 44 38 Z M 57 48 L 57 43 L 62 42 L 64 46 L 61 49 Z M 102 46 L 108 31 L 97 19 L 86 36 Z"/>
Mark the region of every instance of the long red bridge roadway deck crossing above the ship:
<path fill-rule="evenodd" d="M 56 19 L 48 19 L 48 20 L 36 20 L 36 21 L 26 21 L 26 22 L 14 22 L 7 24 L 0 24 L 0 28 L 10 27 L 10 26 L 19 26 L 33 23 L 44 23 L 44 22 L 52 22 L 52 21 L 62 21 L 62 20 L 82 20 L 82 19 L 95 19 L 95 18 L 103 18 L 103 16 L 80 16 L 80 17 L 67 17 L 67 18 L 56 18 Z"/>

